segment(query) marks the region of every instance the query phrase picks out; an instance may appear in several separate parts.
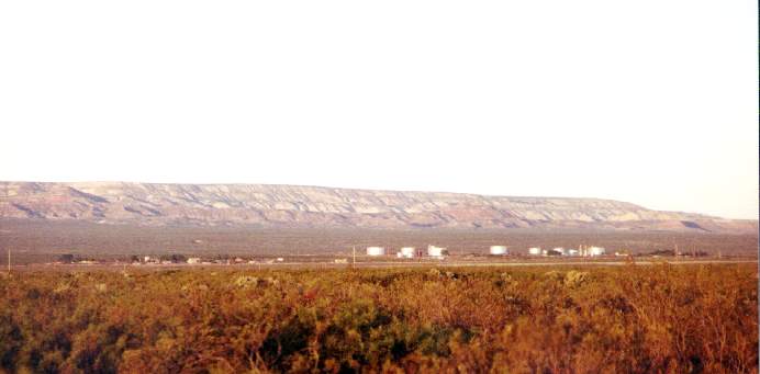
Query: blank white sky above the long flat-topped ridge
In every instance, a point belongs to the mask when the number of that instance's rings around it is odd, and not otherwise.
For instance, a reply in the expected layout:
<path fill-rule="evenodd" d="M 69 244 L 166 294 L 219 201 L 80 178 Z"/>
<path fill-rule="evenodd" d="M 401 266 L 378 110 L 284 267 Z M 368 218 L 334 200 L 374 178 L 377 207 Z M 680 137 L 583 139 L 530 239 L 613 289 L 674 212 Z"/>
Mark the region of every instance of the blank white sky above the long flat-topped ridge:
<path fill-rule="evenodd" d="M 758 217 L 757 2 L 3 1 L 0 180 Z"/>

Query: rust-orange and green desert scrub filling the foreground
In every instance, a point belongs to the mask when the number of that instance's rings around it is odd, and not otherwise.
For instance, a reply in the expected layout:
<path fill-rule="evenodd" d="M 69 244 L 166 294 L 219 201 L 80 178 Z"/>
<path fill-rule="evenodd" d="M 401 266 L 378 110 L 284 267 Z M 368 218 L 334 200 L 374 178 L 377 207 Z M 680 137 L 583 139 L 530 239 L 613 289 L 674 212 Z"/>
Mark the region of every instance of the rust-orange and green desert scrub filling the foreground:
<path fill-rule="evenodd" d="M 27 271 L 0 372 L 757 373 L 757 267 Z"/>

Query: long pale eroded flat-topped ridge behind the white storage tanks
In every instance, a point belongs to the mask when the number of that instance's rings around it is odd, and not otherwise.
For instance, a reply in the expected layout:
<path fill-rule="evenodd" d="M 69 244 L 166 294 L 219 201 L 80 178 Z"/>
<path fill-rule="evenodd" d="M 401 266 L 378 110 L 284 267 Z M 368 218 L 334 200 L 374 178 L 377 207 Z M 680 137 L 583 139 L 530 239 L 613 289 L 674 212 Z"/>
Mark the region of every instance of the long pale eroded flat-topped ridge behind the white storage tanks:
<path fill-rule="evenodd" d="M 138 225 L 757 230 L 757 222 L 599 199 L 266 184 L 0 182 L 0 217 Z"/>

